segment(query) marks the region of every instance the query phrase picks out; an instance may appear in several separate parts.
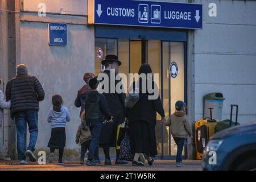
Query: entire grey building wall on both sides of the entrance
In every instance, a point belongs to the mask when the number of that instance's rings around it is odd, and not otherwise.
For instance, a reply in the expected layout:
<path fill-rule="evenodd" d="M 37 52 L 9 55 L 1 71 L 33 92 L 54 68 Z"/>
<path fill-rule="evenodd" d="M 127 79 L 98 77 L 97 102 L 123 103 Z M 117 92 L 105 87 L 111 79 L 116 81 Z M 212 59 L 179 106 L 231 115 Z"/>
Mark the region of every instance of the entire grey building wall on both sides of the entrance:
<path fill-rule="evenodd" d="M 170 0 L 166 0 L 170 1 Z M 0 1 L 5 9 L 6 1 Z M 22 0 L 20 13 L 20 63 L 27 64 L 30 74 L 39 78 L 46 91 L 40 102 L 37 150 L 46 150 L 51 134 L 47 123 L 51 96 L 59 93 L 68 107 L 72 121 L 67 124 L 67 150 L 64 155 L 79 156 L 75 134 L 80 123 L 75 101 L 77 90 L 84 84 L 85 72 L 94 72 L 94 28 L 86 25 L 86 0 Z M 46 4 L 46 17 L 39 17 L 39 3 Z M 172 2 L 188 2 L 177 0 Z M 190 2 L 190 1 L 189 1 Z M 192 121 L 203 118 L 203 96 L 222 92 L 224 112 L 229 118 L 230 104 L 238 104 L 239 122 L 256 121 L 256 2 L 192 1 L 203 4 L 203 30 L 188 33 L 188 105 Z M 208 16 L 208 5 L 217 4 L 217 17 Z M 47 24 L 68 23 L 68 44 L 48 46 Z M 0 76 L 8 80 L 8 42 L 6 12 L 0 16 Z M 19 53 L 19 52 L 18 52 Z M 195 60 L 195 62 L 193 62 Z M 195 75 L 193 77 L 193 75 Z M 3 85 L 0 86 L 3 89 Z M 6 111 L 5 121 L 8 119 Z M 8 127 L 6 122 L 5 126 Z M 3 137 L 5 133 L 5 137 Z M 8 129 L 0 129 L 0 154 L 5 153 Z M 2 143 L 4 143 L 2 145 Z M 0 156 L 1 158 L 1 156 Z"/>

